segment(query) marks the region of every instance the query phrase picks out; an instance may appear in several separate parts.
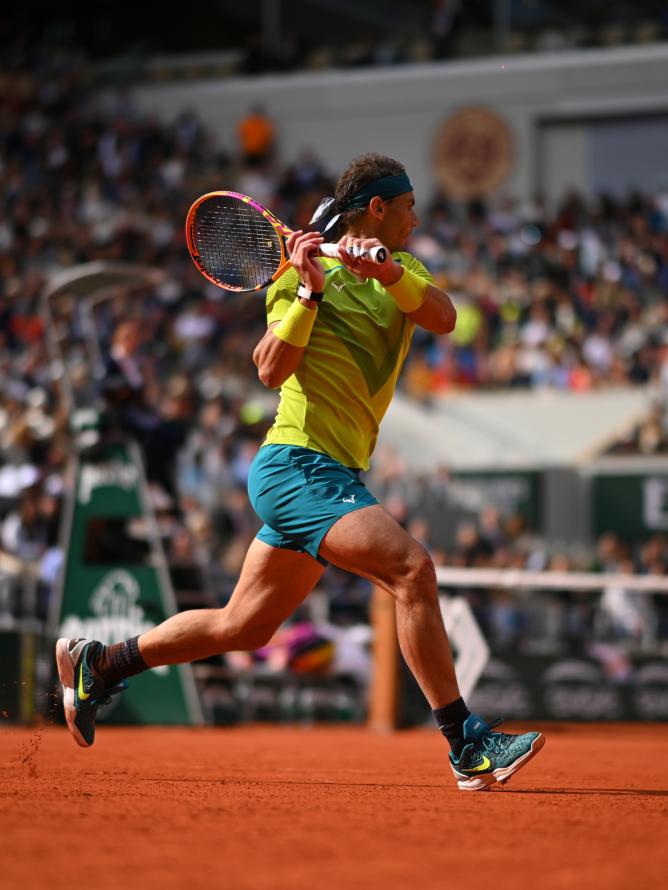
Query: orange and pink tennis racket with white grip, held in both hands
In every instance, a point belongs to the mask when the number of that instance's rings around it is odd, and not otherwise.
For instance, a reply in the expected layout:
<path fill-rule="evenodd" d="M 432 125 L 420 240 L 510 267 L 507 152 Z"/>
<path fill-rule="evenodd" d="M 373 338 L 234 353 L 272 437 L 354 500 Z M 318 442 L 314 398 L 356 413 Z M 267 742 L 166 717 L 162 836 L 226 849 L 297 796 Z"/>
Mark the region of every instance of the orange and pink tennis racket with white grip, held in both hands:
<path fill-rule="evenodd" d="M 290 268 L 285 246 L 292 234 L 270 210 L 238 192 L 209 192 L 188 211 L 186 240 L 190 256 L 205 278 L 231 291 L 262 290 Z M 338 257 L 336 244 L 321 244 L 322 256 Z M 387 257 L 384 247 L 368 256 Z"/>

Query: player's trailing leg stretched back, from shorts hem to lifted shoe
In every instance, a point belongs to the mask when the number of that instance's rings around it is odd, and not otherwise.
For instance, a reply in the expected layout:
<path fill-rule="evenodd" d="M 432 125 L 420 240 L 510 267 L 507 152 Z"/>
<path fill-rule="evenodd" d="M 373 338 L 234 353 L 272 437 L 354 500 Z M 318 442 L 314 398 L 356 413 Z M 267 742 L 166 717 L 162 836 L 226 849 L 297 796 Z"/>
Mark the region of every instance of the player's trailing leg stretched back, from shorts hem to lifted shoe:
<path fill-rule="evenodd" d="M 149 667 L 263 646 L 322 572 L 323 566 L 308 554 L 256 538 L 224 608 L 180 612 L 138 639 L 110 647 L 95 640 L 58 640 L 65 717 L 77 743 L 93 744 L 97 709 L 124 688 L 125 677 Z"/>

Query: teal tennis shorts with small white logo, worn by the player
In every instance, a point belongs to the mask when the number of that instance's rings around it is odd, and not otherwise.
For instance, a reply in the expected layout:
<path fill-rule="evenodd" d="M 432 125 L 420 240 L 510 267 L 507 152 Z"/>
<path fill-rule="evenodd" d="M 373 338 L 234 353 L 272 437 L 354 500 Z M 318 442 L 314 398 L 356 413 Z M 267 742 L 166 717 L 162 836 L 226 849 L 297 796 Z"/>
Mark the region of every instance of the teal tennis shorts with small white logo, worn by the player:
<path fill-rule="evenodd" d="M 248 475 L 248 496 L 265 523 L 257 537 L 318 559 L 322 539 L 337 519 L 378 503 L 359 476 L 360 470 L 319 451 L 265 445 Z"/>

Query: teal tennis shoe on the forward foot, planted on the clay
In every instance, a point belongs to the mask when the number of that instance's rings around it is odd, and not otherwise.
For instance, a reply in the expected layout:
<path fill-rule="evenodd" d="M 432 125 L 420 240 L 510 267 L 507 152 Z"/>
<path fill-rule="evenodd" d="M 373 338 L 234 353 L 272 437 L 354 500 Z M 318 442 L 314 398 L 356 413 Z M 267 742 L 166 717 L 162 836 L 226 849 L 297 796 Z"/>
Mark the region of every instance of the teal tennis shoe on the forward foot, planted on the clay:
<path fill-rule="evenodd" d="M 477 714 L 469 714 L 464 721 L 466 744 L 459 757 L 450 752 L 450 766 L 462 791 L 488 791 L 497 782 L 503 785 L 545 744 L 540 732 L 493 732 L 501 722 L 485 723 Z"/>

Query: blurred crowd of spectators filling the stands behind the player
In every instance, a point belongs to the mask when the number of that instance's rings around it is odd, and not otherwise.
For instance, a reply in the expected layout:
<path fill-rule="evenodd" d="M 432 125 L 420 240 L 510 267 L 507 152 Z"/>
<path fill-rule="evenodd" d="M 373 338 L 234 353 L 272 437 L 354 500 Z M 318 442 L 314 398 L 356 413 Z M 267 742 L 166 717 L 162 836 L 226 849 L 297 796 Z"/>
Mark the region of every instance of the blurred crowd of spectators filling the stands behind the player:
<path fill-rule="evenodd" d="M 71 446 L 40 297 L 51 276 L 78 264 L 140 263 L 160 269 L 162 283 L 118 290 L 96 310 L 95 336 L 109 351 L 119 328 L 135 323 L 142 404 L 178 444 L 171 481 L 151 472 L 158 459 L 148 466 L 168 559 L 197 567 L 224 602 L 258 527 L 245 483 L 276 396 L 251 362 L 264 330 L 262 299 L 209 285 L 188 256 L 183 220 L 199 194 L 228 187 L 303 227 L 331 193 L 333 171 L 308 150 L 282 163 L 271 124 L 262 151 L 249 150 L 248 127 L 239 131 L 245 143 L 224 151 L 193 114 L 169 126 L 141 116 L 122 93 L 91 90 L 85 71 L 54 54 L 0 74 L 0 551 L 39 566 L 44 614 L 62 561 L 58 518 Z M 256 132 L 263 115 L 252 110 Z M 401 382 L 410 397 L 648 384 L 662 396 L 668 388 L 668 189 L 591 202 L 572 194 L 556 208 L 434 195 L 410 249 L 458 309 L 452 336 L 417 332 Z M 69 311 L 76 330 L 79 309 Z M 76 338 L 63 336 L 75 393 L 84 392 L 93 369 Z M 660 408 L 650 423 L 620 448 L 664 449 Z M 556 559 L 573 567 L 566 555 L 544 555 L 516 517 L 493 510 L 439 540 L 419 498 L 385 484 L 393 468 L 396 459 L 380 455 L 373 471 L 388 509 L 437 562 L 549 568 Z M 402 473 L 410 487 L 410 469 Z M 606 552 L 608 569 L 663 574 L 668 543 L 634 551 L 617 541 Z M 323 584 L 342 622 L 367 617 L 364 582 L 330 570 Z M 499 606 L 490 615 L 507 614 Z"/>

